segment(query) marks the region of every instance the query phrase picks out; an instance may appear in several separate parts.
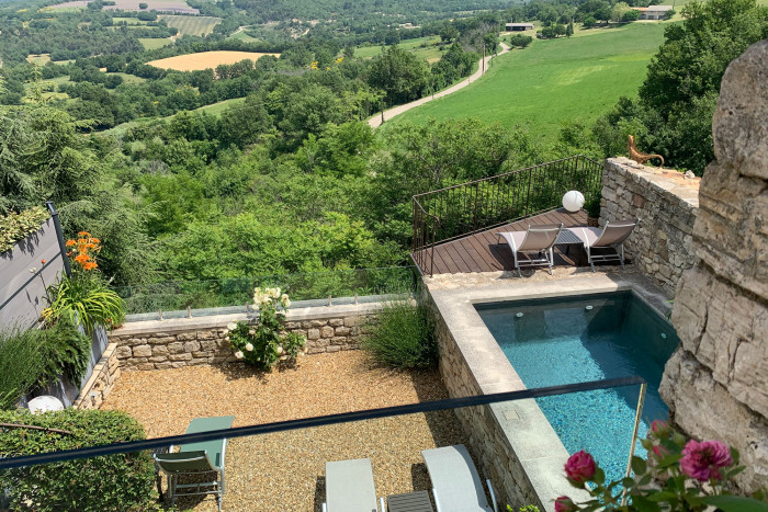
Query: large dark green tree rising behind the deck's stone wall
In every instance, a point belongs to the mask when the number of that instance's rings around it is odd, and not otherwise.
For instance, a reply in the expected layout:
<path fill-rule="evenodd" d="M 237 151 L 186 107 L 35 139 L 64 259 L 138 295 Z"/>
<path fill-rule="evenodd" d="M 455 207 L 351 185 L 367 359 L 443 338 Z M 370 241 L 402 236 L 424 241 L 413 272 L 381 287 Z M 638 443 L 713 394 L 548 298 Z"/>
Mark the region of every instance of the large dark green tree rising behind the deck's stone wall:
<path fill-rule="evenodd" d="M 714 159 L 712 115 L 727 65 L 768 35 L 768 10 L 755 0 L 709 0 L 682 9 L 682 25 L 669 25 L 648 65 L 639 101 L 622 99 L 596 125 L 605 150 L 626 135 L 664 155 L 673 167 L 701 174 Z"/>

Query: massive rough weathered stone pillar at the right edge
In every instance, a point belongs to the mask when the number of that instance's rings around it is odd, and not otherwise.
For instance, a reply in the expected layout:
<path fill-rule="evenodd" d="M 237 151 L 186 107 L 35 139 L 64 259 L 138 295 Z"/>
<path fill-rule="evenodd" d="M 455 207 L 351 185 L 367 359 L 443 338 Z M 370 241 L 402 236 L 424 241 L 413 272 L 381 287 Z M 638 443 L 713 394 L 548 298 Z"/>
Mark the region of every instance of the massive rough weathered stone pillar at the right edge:
<path fill-rule="evenodd" d="M 768 39 L 729 66 L 712 133 L 660 391 L 686 433 L 738 448 L 749 491 L 768 487 Z"/>

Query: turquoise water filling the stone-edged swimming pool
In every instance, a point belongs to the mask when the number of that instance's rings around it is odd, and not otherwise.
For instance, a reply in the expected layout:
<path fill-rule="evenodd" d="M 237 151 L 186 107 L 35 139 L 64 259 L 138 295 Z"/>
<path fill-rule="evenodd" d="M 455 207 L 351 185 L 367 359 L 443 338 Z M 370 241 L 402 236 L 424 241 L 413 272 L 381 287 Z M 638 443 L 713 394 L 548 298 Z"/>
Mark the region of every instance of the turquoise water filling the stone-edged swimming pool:
<path fill-rule="evenodd" d="M 679 340 L 631 292 L 476 305 L 526 387 L 639 375 L 648 383 L 639 435 L 667 418 L 658 395 Z M 568 453 L 591 453 L 609 479 L 626 470 L 640 386 L 539 398 Z M 635 453 L 645 456 L 637 443 Z"/>

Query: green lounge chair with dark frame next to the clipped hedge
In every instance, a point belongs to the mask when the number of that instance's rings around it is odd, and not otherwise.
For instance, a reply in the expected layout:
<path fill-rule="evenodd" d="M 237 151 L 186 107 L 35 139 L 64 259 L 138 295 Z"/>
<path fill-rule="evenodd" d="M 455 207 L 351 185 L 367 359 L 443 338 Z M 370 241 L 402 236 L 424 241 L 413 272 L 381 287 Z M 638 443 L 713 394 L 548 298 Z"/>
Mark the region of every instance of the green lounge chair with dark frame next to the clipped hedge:
<path fill-rule="evenodd" d="M 195 418 L 187 428 L 188 434 L 200 432 L 211 432 L 224 430 L 231 426 L 234 416 L 217 418 Z M 179 452 L 155 454 L 155 464 L 168 476 L 168 492 L 171 499 L 171 507 L 176 504 L 177 497 L 215 494 L 218 510 L 222 510 L 222 498 L 224 497 L 224 458 L 226 455 L 227 440 L 205 441 L 202 443 L 190 443 L 179 447 Z M 191 483 L 179 483 L 179 477 L 202 478 L 211 474 L 212 480 Z M 187 479 L 187 478 L 184 478 Z M 207 478 L 204 478 L 207 480 Z"/>

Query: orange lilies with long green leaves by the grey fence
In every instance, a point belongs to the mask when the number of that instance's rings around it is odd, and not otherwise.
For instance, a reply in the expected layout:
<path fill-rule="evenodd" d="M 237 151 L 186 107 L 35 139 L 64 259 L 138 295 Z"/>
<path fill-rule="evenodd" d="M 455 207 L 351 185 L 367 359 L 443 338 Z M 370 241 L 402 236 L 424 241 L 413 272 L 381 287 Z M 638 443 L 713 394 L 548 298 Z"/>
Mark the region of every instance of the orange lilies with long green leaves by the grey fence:
<path fill-rule="evenodd" d="M 67 255 L 72 262 L 72 273 L 48 287 L 50 306 L 43 311 L 47 323 L 55 323 L 66 316 L 77 319 L 89 333 L 98 325 L 108 329 L 120 326 L 125 318 L 125 303 L 109 289 L 97 270 L 95 255 L 101 241 L 88 231 L 80 231 L 76 240 L 67 240 Z"/>

